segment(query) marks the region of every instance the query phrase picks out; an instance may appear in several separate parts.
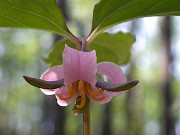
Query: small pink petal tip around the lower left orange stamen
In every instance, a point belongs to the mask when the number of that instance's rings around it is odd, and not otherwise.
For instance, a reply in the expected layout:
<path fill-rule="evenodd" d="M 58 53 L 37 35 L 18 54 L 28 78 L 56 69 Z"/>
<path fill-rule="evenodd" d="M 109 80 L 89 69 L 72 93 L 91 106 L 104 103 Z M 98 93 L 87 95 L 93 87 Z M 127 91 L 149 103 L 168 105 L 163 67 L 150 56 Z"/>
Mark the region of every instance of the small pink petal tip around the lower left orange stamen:
<path fill-rule="evenodd" d="M 68 96 L 68 93 L 67 93 L 67 88 L 62 88 L 60 90 L 57 90 L 56 91 L 56 98 L 57 98 L 57 103 L 60 105 L 60 106 L 67 106 L 69 104 L 71 104 L 73 101 L 76 100 L 76 98 L 78 97 L 79 95 L 79 92 L 77 91 L 74 96 L 72 98 L 70 98 L 69 100 L 61 100 L 60 98 L 58 98 L 57 96 L 57 93 L 59 93 L 62 97 L 67 97 Z"/>

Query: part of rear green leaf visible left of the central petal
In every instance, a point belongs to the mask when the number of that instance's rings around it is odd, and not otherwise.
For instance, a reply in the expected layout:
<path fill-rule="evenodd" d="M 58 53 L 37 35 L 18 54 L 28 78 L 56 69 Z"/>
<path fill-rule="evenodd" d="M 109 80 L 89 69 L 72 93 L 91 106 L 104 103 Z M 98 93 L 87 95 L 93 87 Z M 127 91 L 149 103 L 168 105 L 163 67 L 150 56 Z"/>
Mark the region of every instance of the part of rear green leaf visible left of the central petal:
<path fill-rule="evenodd" d="M 68 39 L 60 40 L 55 44 L 54 48 L 49 53 L 49 56 L 45 61 L 47 63 L 50 63 L 51 66 L 56 66 L 56 65 L 62 64 L 62 61 L 63 61 L 62 53 L 63 53 L 65 44 L 72 48 L 76 47 L 76 45 Z"/>

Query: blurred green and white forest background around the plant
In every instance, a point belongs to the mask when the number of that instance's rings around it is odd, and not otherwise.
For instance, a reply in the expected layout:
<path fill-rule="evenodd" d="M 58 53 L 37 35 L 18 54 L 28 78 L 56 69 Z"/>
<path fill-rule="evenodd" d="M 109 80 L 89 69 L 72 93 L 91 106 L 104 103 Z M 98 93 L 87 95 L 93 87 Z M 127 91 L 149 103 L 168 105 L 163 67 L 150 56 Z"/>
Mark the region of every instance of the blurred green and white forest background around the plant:
<path fill-rule="evenodd" d="M 91 28 L 98 0 L 60 0 L 70 30 Z M 180 135 L 180 18 L 143 18 L 108 30 L 136 35 L 129 63 L 121 65 L 135 89 L 106 105 L 91 104 L 92 135 Z M 0 135 L 81 135 L 73 105 L 60 107 L 22 76 L 39 77 L 54 42 L 48 32 L 0 29 Z M 113 46 L 113 41 L 110 46 Z"/>

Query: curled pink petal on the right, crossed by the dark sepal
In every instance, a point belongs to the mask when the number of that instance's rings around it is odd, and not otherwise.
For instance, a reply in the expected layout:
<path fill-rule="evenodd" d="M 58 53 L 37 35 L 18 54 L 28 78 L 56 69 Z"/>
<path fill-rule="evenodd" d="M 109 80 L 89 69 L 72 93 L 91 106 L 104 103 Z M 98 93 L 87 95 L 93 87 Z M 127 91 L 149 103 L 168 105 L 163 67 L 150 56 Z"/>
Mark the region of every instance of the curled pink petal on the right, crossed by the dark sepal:
<path fill-rule="evenodd" d="M 120 84 L 126 82 L 126 77 L 123 74 L 122 69 L 112 62 L 101 62 L 97 65 L 97 72 L 99 74 L 106 75 L 113 84 Z M 119 96 L 123 92 L 109 92 L 109 96 Z"/>

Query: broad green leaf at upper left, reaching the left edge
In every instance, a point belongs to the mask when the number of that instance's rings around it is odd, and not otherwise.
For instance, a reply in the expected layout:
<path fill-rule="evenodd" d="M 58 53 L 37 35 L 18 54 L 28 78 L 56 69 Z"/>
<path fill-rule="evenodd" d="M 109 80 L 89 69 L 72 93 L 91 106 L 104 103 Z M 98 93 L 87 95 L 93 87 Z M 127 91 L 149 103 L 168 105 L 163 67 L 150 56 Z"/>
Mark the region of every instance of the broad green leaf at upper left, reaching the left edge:
<path fill-rule="evenodd" d="M 0 27 L 39 29 L 74 39 L 55 0 L 0 0 Z"/>

